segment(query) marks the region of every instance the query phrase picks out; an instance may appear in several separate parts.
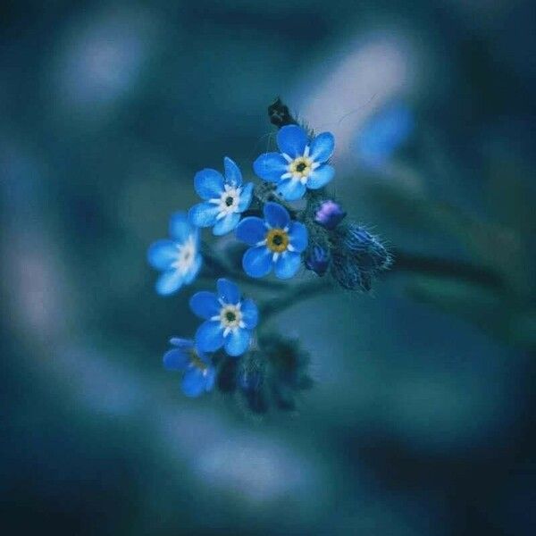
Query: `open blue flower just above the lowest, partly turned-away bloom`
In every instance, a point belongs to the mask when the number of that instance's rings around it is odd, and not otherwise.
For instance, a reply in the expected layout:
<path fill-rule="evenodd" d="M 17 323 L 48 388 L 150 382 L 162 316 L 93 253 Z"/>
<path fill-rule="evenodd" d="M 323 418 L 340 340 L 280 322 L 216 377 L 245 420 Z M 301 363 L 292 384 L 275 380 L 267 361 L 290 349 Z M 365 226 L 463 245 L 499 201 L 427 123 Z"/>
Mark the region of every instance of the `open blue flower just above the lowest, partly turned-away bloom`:
<path fill-rule="evenodd" d="M 219 279 L 217 289 L 217 294 L 197 292 L 189 301 L 191 310 L 205 319 L 197 329 L 197 348 L 215 352 L 223 347 L 229 356 L 241 356 L 258 322 L 257 307 L 251 299 L 240 299 L 239 287 L 232 281 Z"/>

